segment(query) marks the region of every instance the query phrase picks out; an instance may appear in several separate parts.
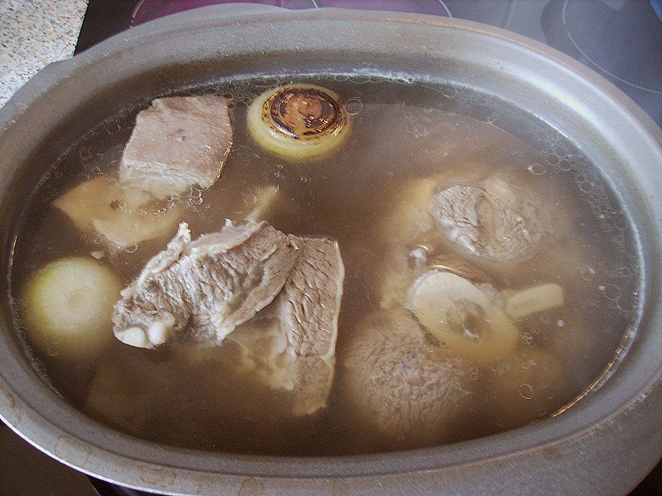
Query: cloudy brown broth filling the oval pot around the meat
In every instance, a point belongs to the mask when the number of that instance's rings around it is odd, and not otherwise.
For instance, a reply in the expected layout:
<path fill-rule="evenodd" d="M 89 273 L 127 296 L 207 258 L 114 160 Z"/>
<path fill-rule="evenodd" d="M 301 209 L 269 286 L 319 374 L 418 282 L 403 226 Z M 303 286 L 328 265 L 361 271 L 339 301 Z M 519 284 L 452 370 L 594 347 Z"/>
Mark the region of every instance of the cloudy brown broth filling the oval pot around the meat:
<path fill-rule="evenodd" d="M 234 143 L 223 171 L 209 189 L 192 187 L 150 204 L 146 214 L 167 213 L 170 227 L 121 249 L 81 231 L 52 202 L 85 180 L 117 174 L 141 109 L 118 114 L 82 136 L 47 173 L 23 215 L 12 288 L 19 298 L 26 280 L 44 263 L 90 254 L 128 286 L 176 234 L 174 217 L 188 223 L 194 237 L 219 231 L 226 219 L 256 218 L 288 235 L 332 239 L 342 252 L 345 280 L 327 406 L 293 415 L 297 398 L 254 372 L 261 368 L 272 374 L 277 367 L 246 366 L 259 350 L 250 335 L 243 336 L 250 340 L 249 355 L 239 335 L 220 347 L 181 342 L 135 349 L 115 341 L 95 360 L 63 360 L 57 349 L 31 351 L 45 380 L 81 411 L 132 435 L 178 446 L 287 456 L 379 453 L 498 433 L 555 415 L 605 380 L 627 348 L 636 318 L 639 261 L 627 212 L 581 150 L 536 118 L 465 88 L 345 76 L 311 81 L 339 94 L 352 114 L 351 134 L 340 149 L 290 161 L 252 142 L 247 105 L 274 81 L 201 88 L 200 94 L 233 102 Z M 526 205 L 535 205 L 532 225 L 541 230 L 525 236 L 533 251 L 510 259 L 472 252 L 471 242 L 450 235 L 470 222 L 466 214 L 453 216 L 445 231 L 435 227 L 434 195 L 466 190 L 475 193 L 471 198 L 478 204 L 490 201 L 485 185 L 509 185 L 525 192 Z M 501 204 L 490 205 L 499 209 Z M 490 218 L 496 215 L 489 211 Z M 508 203 L 508 211 L 517 222 L 516 207 Z M 490 232 L 492 238 L 498 234 Z M 522 294 L 535 296 L 548 288 L 558 295 L 556 287 L 563 301 L 507 316 L 518 336 L 516 348 L 483 363 L 459 356 L 450 341 L 439 339 L 407 308 L 414 281 L 430 270 L 469 281 L 485 295 L 484 307 L 503 308 L 516 294 L 522 304 Z M 523 293 L 528 290 L 533 292 Z M 389 315 L 397 318 L 379 324 Z M 470 326 L 471 318 L 463 325 Z M 273 328 L 269 322 L 256 324 L 265 335 Z M 383 341 L 388 336 L 380 329 L 397 339 Z M 414 351 L 392 349 L 390 343 L 407 332 Z M 26 342 L 29 347 L 29 336 Z M 357 363 L 356 357 L 366 353 L 357 351 L 361 343 L 383 353 L 368 353 L 383 372 L 372 383 L 370 371 Z M 328 378 L 328 363 L 323 365 Z M 419 366 L 427 367 L 425 373 Z M 310 370 L 314 375 L 317 369 Z M 388 384 L 381 399 L 365 400 L 365 388 L 378 394 L 387 379 L 404 382 Z M 439 395 L 426 396 L 406 413 L 407 401 L 381 409 L 389 397 L 403 401 L 407 389 L 402 384 Z M 449 400 L 452 408 L 436 403 Z M 437 411 L 443 413 L 443 425 L 430 427 L 434 431 L 427 435 L 426 415 Z M 401 431 L 403 424 L 408 431 Z"/>

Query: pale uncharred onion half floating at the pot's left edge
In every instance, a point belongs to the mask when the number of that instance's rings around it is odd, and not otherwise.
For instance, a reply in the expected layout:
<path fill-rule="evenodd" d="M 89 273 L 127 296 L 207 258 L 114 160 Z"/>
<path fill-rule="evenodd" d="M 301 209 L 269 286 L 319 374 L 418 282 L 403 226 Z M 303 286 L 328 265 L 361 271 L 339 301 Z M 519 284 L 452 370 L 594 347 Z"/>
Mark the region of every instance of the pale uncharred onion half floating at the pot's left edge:
<path fill-rule="evenodd" d="M 112 307 L 122 282 L 92 258 L 61 258 L 28 281 L 21 318 L 28 342 L 59 358 L 98 355 L 113 340 Z"/>

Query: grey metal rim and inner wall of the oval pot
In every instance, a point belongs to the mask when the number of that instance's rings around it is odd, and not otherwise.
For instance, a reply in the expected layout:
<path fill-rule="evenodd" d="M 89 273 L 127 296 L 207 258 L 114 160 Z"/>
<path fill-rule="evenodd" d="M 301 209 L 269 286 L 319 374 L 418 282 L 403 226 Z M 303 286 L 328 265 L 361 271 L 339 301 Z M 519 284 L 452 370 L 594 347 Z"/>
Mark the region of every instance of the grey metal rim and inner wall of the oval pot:
<path fill-rule="evenodd" d="M 641 247 L 641 312 L 629 351 L 562 415 L 487 438 L 405 453 L 331 458 L 224 455 L 124 435 L 46 386 L 12 329 L 8 266 L 19 213 L 45 172 L 126 105 L 232 74 L 379 74 L 451 81 L 541 116 L 601 167 Z M 120 34 L 43 70 L 0 112 L 0 415 L 65 464 L 176 494 L 622 495 L 662 455 L 662 132 L 579 63 L 477 23 L 343 10 L 212 7 Z"/>

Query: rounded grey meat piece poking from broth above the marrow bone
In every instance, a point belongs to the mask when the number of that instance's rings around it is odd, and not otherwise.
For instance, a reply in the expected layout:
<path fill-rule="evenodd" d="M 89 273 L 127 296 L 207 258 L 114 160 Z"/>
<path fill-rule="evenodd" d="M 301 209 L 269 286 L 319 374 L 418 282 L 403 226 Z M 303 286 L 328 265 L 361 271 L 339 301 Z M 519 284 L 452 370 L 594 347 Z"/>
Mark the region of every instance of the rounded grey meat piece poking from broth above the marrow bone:
<path fill-rule="evenodd" d="M 543 235 L 532 200 L 494 178 L 442 189 L 432 198 L 432 216 L 450 240 L 498 262 L 532 258 Z"/>

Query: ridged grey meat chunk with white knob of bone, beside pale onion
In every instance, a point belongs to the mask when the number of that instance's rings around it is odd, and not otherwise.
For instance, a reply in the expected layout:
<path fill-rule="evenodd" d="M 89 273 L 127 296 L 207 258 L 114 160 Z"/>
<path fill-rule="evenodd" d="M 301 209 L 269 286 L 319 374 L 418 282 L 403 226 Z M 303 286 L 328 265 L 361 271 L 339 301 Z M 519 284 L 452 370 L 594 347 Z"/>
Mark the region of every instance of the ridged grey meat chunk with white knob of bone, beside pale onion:
<path fill-rule="evenodd" d="M 297 245 L 267 223 L 228 221 L 191 241 L 188 225 L 124 289 L 112 322 L 119 340 L 153 348 L 188 337 L 221 342 L 280 293 Z"/>

